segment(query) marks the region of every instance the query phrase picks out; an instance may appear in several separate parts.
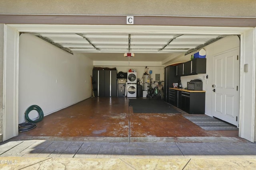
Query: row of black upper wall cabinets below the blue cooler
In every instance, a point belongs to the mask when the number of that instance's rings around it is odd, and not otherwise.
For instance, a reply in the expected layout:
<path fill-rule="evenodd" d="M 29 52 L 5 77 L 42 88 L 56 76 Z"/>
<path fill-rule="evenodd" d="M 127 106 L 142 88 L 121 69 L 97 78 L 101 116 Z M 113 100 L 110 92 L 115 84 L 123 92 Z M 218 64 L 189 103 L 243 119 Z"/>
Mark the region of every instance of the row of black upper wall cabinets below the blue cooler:
<path fill-rule="evenodd" d="M 206 74 L 206 58 L 197 58 L 177 65 L 177 76 Z"/>

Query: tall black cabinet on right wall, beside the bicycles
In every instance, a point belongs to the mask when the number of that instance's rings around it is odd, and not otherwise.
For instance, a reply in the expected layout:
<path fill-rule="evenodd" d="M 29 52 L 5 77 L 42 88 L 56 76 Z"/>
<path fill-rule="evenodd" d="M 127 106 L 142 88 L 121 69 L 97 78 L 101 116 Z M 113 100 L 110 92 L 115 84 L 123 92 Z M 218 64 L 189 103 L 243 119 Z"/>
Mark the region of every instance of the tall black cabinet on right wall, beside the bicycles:
<path fill-rule="evenodd" d="M 164 68 L 164 101 L 169 103 L 169 88 L 173 83 L 177 83 L 180 76 L 176 76 L 176 66 L 167 66 Z"/>

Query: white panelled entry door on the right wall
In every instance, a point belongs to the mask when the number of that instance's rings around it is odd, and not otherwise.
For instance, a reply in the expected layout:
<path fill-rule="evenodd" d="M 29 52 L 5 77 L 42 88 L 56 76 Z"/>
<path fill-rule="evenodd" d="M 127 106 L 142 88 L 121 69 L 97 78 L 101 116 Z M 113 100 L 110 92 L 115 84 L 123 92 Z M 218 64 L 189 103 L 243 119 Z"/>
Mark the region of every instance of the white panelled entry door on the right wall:
<path fill-rule="evenodd" d="M 239 49 L 214 56 L 212 115 L 239 124 Z"/>

